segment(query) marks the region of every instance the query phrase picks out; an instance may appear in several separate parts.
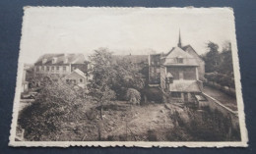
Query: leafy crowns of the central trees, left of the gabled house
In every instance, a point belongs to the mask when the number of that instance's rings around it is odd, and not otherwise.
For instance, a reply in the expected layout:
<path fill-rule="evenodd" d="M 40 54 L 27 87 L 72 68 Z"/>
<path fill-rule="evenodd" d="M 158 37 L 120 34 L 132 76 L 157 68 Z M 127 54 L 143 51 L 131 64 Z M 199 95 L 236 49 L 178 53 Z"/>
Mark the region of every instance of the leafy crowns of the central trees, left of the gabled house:
<path fill-rule="evenodd" d="M 94 77 L 93 83 L 90 84 L 91 90 L 94 86 L 98 86 L 96 88 L 107 86 L 115 92 L 117 99 L 124 100 L 128 88 L 140 91 L 145 85 L 140 73 L 142 68 L 125 58 L 113 64 L 112 53 L 107 49 L 96 50 L 91 56 L 91 61 L 93 65 L 91 74 Z"/>

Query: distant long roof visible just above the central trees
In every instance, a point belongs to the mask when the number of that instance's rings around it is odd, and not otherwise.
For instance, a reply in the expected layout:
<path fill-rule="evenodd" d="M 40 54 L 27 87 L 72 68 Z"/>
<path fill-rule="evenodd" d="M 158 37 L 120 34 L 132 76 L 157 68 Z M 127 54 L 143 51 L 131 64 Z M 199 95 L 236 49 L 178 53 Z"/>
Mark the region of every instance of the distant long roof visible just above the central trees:
<path fill-rule="evenodd" d="M 116 64 L 117 61 L 122 61 L 125 59 L 134 64 L 140 64 L 148 62 L 148 58 L 148 55 L 112 55 L 112 62 Z"/>

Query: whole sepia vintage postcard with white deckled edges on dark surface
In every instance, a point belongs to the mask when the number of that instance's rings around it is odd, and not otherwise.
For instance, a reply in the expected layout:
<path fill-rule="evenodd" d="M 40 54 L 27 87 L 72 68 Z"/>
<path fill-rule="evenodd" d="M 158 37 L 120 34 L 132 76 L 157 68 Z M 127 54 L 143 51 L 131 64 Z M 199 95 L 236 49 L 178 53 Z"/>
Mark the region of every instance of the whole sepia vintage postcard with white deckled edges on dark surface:
<path fill-rule="evenodd" d="M 25 7 L 10 146 L 246 147 L 231 8 Z"/>

